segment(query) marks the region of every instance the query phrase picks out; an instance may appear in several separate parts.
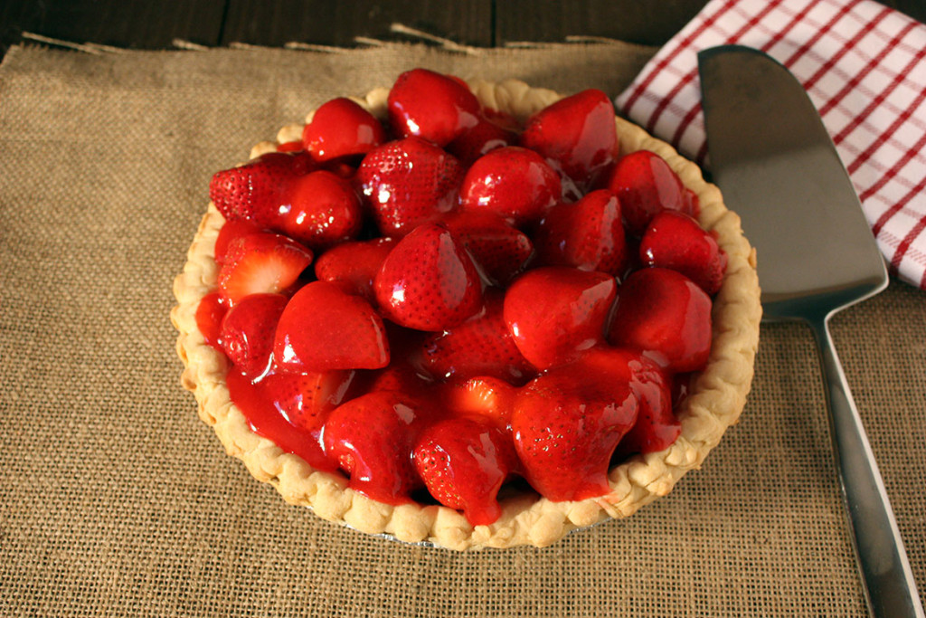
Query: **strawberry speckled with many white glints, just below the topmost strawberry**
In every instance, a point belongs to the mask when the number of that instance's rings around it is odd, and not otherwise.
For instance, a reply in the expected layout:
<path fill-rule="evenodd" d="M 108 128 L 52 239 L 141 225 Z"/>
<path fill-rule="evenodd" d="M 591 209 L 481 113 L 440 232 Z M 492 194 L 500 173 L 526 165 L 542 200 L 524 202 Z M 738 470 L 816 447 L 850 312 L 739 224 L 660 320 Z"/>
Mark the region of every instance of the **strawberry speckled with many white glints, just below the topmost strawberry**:
<path fill-rule="evenodd" d="M 457 205 L 464 171 L 441 148 L 408 137 L 370 151 L 357 181 L 382 235 L 404 235 Z"/>

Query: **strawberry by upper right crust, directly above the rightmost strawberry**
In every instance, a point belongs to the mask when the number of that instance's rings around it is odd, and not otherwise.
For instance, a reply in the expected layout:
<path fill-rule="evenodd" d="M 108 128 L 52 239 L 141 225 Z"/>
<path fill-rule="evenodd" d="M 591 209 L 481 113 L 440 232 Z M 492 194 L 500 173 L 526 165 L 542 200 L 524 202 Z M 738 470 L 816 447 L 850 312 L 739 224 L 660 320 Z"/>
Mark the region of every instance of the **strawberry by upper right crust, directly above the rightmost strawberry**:
<path fill-rule="evenodd" d="M 635 236 L 663 210 L 694 215 L 697 203 L 669 164 L 648 150 L 621 157 L 607 178 L 607 189 L 618 196 L 627 232 Z"/>

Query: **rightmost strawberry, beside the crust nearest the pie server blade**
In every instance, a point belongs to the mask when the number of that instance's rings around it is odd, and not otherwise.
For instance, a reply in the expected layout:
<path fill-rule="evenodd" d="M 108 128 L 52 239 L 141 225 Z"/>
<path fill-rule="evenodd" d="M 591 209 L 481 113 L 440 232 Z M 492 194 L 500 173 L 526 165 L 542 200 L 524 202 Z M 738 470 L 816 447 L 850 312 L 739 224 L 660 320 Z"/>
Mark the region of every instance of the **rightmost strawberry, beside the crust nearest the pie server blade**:
<path fill-rule="evenodd" d="M 640 240 L 640 261 L 679 271 L 707 294 L 717 294 L 727 270 L 727 254 L 717 239 L 688 215 L 674 210 L 657 214 Z"/>

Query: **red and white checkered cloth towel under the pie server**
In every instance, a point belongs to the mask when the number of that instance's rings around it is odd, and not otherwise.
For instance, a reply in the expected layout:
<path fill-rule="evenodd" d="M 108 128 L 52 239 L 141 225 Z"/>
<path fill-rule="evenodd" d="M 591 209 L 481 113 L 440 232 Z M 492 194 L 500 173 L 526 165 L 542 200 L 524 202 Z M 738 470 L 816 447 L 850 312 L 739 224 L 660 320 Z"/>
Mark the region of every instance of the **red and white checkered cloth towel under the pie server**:
<path fill-rule="evenodd" d="M 760 49 L 820 110 L 891 274 L 926 289 L 926 25 L 872 0 L 712 0 L 617 98 L 705 163 L 697 52 Z"/>

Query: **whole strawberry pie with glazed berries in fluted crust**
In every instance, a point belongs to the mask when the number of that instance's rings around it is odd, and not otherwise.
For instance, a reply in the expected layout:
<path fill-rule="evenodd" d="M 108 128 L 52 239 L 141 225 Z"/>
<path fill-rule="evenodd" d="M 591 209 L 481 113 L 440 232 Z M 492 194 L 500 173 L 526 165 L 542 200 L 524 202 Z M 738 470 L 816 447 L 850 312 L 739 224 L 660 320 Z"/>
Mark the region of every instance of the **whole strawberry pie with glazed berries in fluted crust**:
<path fill-rule="evenodd" d="M 283 498 L 451 549 L 664 496 L 745 405 L 755 259 L 607 95 L 413 69 L 221 170 L 174 283 L 201 418 Z"/>

